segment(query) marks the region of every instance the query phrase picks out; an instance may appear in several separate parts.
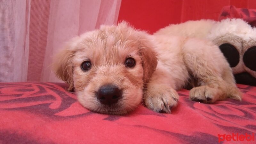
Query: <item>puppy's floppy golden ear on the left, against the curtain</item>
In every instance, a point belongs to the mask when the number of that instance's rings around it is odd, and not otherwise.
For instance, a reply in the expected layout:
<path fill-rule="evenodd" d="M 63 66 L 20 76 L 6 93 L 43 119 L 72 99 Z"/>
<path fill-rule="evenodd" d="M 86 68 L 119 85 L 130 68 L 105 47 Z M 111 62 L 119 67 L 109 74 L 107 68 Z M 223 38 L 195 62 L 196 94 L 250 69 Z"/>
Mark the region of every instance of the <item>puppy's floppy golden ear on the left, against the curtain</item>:
<path fill-rule="evenodd" d="M 76 52 L 75 44 L 78 36 L 73 38 L 66 46 L 53 58 L 52 69 L 56 76 L 68 84 L 68 91 L 74 90 L 73 64 L 72 59 Z"/>

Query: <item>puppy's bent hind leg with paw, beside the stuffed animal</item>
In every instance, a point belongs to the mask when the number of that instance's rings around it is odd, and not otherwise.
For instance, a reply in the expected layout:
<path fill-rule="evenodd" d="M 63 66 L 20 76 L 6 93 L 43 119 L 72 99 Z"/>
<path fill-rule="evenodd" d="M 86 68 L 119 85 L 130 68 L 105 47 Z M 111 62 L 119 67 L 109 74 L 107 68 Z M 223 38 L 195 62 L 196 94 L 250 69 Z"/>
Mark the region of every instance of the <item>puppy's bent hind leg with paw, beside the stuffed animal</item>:
<path fill-rule="evenodd" d="M 183 46 L 183 59 L 200 85 L 190 90 L 191 100 L 204 103 L 228 97 L 241 100 L 232 70 L 216 45 L 189 39 Z"/>

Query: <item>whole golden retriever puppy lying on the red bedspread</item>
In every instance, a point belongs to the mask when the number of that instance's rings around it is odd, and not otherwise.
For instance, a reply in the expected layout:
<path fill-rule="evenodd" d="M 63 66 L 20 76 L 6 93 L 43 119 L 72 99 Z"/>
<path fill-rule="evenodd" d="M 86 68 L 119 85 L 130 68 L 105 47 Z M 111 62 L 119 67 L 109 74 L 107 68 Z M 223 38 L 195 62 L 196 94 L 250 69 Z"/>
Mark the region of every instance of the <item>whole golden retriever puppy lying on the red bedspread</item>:
<path fill-rule="evenodd" d="M 125 22 L 74 38 L 53 66 L 68 90 L 75 89 L 78 101 L 100 113 L 126 114 L 142 100 L 149 109 L 170 113 L 179 99 L 176 90 L 189 84 L 194 84 L 191 100 L 241 100 L 217 46 L 194 38 L 152 36 Z"/>

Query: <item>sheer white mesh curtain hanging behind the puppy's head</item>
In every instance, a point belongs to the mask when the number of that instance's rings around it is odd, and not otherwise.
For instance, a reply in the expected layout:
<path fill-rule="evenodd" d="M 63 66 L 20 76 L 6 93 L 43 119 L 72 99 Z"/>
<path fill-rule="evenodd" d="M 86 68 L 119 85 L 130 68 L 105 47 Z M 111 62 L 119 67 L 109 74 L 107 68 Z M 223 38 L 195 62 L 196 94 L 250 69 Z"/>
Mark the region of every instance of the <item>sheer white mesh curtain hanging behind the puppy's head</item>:
<path fill-rule="evenodd" d="M 121 0 L 0 0 L 0 82 L 57 82 L 52 56 L 70 38 L 117 22 Z"/>

